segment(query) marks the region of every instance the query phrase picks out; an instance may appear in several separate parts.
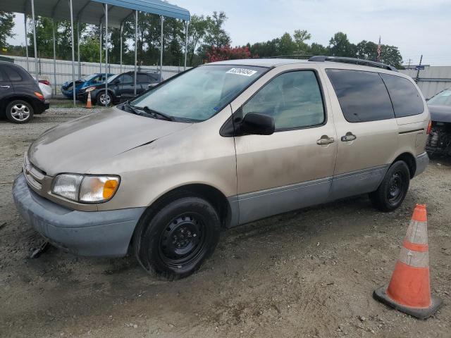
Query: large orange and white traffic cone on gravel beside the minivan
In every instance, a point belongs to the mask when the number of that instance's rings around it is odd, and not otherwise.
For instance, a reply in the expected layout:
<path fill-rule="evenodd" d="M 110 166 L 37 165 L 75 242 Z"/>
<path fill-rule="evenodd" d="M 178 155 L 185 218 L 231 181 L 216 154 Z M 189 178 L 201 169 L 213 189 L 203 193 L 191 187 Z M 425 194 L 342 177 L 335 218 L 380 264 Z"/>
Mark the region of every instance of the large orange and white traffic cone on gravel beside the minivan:
<path fill-rule="evenodd" d="M 420 319 L 430 317 L 442 305 L 441 299 L 431 296 L 428 220 L 424 204 L 416 204 L 388 288 L 376 289 L 373 297 Z"/>

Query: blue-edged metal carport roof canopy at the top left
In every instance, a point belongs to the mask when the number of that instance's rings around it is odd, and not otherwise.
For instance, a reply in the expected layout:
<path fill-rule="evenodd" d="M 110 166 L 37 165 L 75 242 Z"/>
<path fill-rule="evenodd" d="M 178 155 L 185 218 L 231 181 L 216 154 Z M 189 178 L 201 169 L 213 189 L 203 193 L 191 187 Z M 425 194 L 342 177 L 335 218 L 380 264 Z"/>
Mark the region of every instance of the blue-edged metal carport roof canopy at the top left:
<path fill-rule="evenodd" d="M 190 12 L 185 8 L 160 0 L 76 0 L 73 1 L 73 18 L 80 23 L 99 25 L 105 17 L 104 4 L 109 5 L 109 27 L 121 27 L 121 23 L 133 11 L 190 21 Z M 30 0 L 1 0 L 1 10 L 31 15 Z M 67 0 L 35 0 L 35 14 L 56 20 L 70 20 Z"/>

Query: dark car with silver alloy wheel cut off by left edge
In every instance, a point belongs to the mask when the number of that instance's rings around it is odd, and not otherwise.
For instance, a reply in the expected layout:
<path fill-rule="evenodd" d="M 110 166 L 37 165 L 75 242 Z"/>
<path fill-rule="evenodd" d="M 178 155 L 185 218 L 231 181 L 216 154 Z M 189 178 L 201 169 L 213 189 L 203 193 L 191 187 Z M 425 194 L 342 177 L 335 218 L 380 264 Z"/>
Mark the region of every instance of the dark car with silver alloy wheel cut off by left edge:
<path fill-rule="evenodd" d="M 0 117 L 26 123 L 49 108 L 39 85 L 20 65 L 0 61 Z"/>

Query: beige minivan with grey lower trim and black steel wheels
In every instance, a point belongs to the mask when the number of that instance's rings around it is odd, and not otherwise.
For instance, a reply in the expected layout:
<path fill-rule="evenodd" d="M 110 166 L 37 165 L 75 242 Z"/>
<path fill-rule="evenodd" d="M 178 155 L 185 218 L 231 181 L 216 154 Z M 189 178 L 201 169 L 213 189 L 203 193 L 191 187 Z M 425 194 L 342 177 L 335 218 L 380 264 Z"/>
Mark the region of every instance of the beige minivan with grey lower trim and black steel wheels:
<path fill-rule="evenodd" d="M 211 255 L 221 228 L 366 193 L 393 211 L 428 164 L 430 127 L 416 84 L 388 65 L 209 63 L 44 132 L 13 196 L 55 246 L 134 251 L 174 279 Z"/>

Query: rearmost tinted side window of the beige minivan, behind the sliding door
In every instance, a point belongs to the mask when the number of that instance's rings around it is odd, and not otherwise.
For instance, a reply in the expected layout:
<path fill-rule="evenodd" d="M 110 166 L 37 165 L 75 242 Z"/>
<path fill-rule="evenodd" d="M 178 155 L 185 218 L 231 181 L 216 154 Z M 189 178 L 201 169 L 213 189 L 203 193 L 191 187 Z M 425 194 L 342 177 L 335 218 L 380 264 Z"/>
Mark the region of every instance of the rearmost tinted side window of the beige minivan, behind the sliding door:
<path fill-rule="evenodd" d="M 424 112 L 423 100 L 412 82 L 396 75 L 381 74 L 381 77 L 387 86 L 397 118 Z"/>

